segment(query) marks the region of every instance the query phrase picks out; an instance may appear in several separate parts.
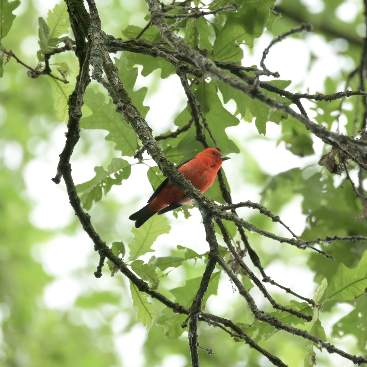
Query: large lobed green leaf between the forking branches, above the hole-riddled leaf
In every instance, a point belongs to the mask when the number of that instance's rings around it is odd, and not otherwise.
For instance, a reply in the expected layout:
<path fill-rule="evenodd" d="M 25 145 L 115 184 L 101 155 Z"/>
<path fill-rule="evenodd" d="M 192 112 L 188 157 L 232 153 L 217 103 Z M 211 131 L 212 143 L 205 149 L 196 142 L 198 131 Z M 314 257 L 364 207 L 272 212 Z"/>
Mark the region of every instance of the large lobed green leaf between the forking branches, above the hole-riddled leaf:
<path fill-rule="evenodd" d="M 112 101 L 106 103 L 102 93 L 95 93 L 90 88 L 84 94 L 84 103 L 91 109 L 92 115 L 80 120 L 84 129 L 101 129 L 109 131 L 106 140 L 116 144 L 115 149 L 121 150 L 122 156 L 133 156 L 138 146 L 138 138 L 131 126 L 116 113 Z"/>

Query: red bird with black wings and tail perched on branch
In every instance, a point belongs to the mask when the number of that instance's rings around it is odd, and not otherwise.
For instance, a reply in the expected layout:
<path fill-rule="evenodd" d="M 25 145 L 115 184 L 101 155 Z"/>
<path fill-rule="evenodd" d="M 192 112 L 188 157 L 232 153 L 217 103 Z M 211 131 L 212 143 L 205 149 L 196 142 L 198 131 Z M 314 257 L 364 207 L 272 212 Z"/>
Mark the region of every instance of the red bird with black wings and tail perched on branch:
<path fill-rule="evenodd" d="M 181 163 L 177 169 L 203 194 L 213 184 L 219 168 L 227 159 L 230 158 L 222 156 L 217 149 L 207 148 L 197 156 Z M 135 227 L 139 228 L 152 215 L 166 213 L 190 202 L 191 200 L 170 179 L 166 178 L 150 197 L 148 205 L 131 214 L 129 219 L 135 221 Z"/>

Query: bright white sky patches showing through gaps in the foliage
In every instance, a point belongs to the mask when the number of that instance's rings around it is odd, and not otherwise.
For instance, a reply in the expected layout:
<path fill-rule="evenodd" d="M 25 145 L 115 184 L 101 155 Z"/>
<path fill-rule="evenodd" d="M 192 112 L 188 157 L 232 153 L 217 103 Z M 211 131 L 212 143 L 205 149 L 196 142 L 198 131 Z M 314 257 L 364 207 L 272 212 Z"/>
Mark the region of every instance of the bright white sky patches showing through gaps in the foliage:
<path fill-rule="evenodd" d="M 52 7 L 50 4 L 54 4 L 54 1 L 50 3 L 49 0 L 37 0 L 36 3 L 39 4 L 41 16 L 46 17 L 47 10 Z M 314 11 L 321 10 L 323 6 L 321 0 L 305 0 L 305 3 Z M 350 0 L 348 2 L 348 12 L 345 11 L 345 7 L 346 5 L 342 4 L 337 9 L 337 14 L 344 21 L 352 21 L 357 12 L 361 11 L 361 1 Z M 22 11 L 22 8 L 20 8 L 19 11 Z M 244 48 L 246 66 L 259 63 L 262 51 L 268 46 L 271 39 L 271 36 L 264 35 L 261 39 L 255 40 L 253 55 Z M 37 43 L 37 39 L 33 41 Z M 34 47 L 32 43 L 30 44 L 31 46 L 29 46 L 28 43 L 28 50 L 32 50 L 33 52 Z M 345 43 L 342 41 L 326 43 L 321 37 L 312 33 L 305 34 L 304 41 L 289 37 L 270 50 L 266 58 L 266 66 L 272 71 L 278 71 L 280 73 L 280 79 L 292 80 L 293 83 L 289 88 L 291 91 L 310 93 L 322 92 L 323 83 L 327 76 L 337 77 L 339 76 L 340 69 L 352 70 L 354 67 L 350 59 L 337 54 L 343 47 L 345 47 Z M 310 50 L 317 55 L 317 61 L 313 64 L 312 71 L 308 72 L 307 66 L 310 60 Z M 327 71 L 327 75 L 325 75 L 325 71 Z M 146 79 L 139 76 L 136 89 L 146 84 L 149 85 L 150 79 L 150 76 Z M 172 93 L 172 91 L 177 91 L 177 93 Z M 161 114 L 162 101 L 164 101 L 165 110 L 170 108 L 170 112 L 166 113 L 164 116 Z M 167 101 L 170 101 L 170 103 L 167 103 Z M 152 95 L 148 95 L 145 99 L 145 105 L 150 106 L 147 121 L 153 128 L 155 135 L 167 131 L 167 128 L 171 127 L 175 114 L 185 106 L 185 103 L 186 98 L 180 89 L 177 76 L 171 76 L 161 81 L 159 90 Z M 234 112 L 235 110 L 231 103 L 228 103 L 226 107 L 230 112 Z M 86 289 L 109 289 L 111 287 L 117 287 L 116 283 L 119 283 L 116 282 L 115 285 L 113 285 L 114 281 L 111 281 L 106 274 L 98 280 L 94 278 L 92 272 L 80 277 L 79 270 L 87 266 L 91 257 L 94 259 L 95 265 L 97 266 L 98 264 L 98 258 L 94 253 L 93 245 L 81 229 L 76 236 L 68 236 L 62 233 L 62 228 L 72 221 L 74 214 L 69 205 L 65 185 L 63 183 L 55 185 L 51 181 L 51 178 L 55 175 L 58 156 L 65 143 L 65 131 L 66 127 L 61 126 L 52 132 L 49 142 L 39 143 L 37 146 L 37 152 L 39 152 L 38 156 L 29 162 L 24 172 L 27 186 L 25 195 L 30 197 L 35 203 L 35 208 L 30 215 L 30 221 L 34 226 L 41 229 L 61 230 L 51 241 L 35 246 L 33 251 L 34 258 L 37 259 L 37 261 L 41 261 L 45 271 L 55 277 L 55 280 L 46 287 L 42 303 L 49 308 L 59 310 L 67 310 L 73 305 L 76 297 Z M 239 126 L 229 128 L 226 131 L 233 139 L 247 141 L 247 150 L 249 152 L 257 152 L 256 158 L 260 166 L 269 174 L 276 174 L 279 171 L 285 171 L 293 167 L 305 167 L 309 164 L 317 164 L 317 160 L 321 156 L 323 148 L 323 144 L 318 139 L 315 139 L 314 148 L 316 155 L 300 159 L 286 150 L 284 144 L 280 144 L 276 147 L 274 141 L 280 137 L 281 128 L 274 123 L 267 124 L 267 136 L 269 136 L 272 141 L 259 139 L 254 123 L 249 124 L 241 122 Z M 103 133 L 101 134 L 101 132 L 91 132 L 90 134 L 95 134 L 96 137 L 105 135 Z M 98 155 L 94 157 L 94 161 L 92 161 L 90 157 L 88 157 L 88 159 L 74 159 L 73 174 L 75 182 L 80 183 L 87 181 L 94 175 L 93 168 L 101 165 L 103 161 L 103 157 L 101 157 L 101 154 L 103 155 L 103 144 L 104 142 L 102 140 L 101 148 L 98 149 L 99 147 L 96 147 L 95 150 L 98 151 Z M 19 166 L 21 161 L 19 147 L 13 146 L 7 149 L 8 153 L 5 152 L 6 154 L 4 153 L 4 156 L 8 165 L 12 167 Z M 264 152 L 264 155 L 259 155 L 259 152 Z M 271 154 L 269 154 L 269 152 L 271 152 Z M 224 163 L 224 169 L 231 185 L 233 201 L 259 201 L 259 188 L 237 181 L 236 167 L 242 164 L 240 155 L 232 154 L 230 156 L 232 159 Z M 133 160 L 130 159 L 130 161 L 132 162 Z M 280 162 L 282 163 L 281 167 Z M 34 172 L 37 172 L 37 175 L 35 175 Z M 137 190 L 137 182 L 141 182 L 139 190 Z M 126 192 L 131 193 L 128 198 L 124 195 Z M 128 215 L 136 211 L 142 205 L 145 205 L 146 200 L 151 195 L 151 187 L 146 178 L 146 168 L 142 165 L 134 166 L 130 179 L 124 181 L 122 186 L 113 188 L 109 195 L 115 196 L 121 203 L 126 203 L 126 200 L 131 202 L 130 211 L 121 210 L 119 213 L 119 228 L 116 228 L 116 240 L 126 239 L 126 234 L 130 233 L 133 225 L 133 223 L 127 219 Z M 137 196 L 141 197 L 139 202 L 135 202 Z M 299 204 L 300 201 L 296 199 L 281 213 L 275 213 L 279 214 L 281 219 L 298 234 L 302 232 L 305 222 L 300 212 Z M 153 246 L 153 248 L 157 250 L 157 253 L 154 253 L 154 255 L 158 256 L 160 254 L 165 254 L 167 249 L 177 243 L 186 247 L 192 247 L 199 253 L 207 251 L 204 231 L 200 225 L 200 213 L 197 209 L 192 209 L 190 212 L 192 213 L 192 217 L 189 218 L 189 222 L 182 218 L 175 220 L 171 213 L 166 214 L 166 217 L 169 218 L 172 230 L 168 235 L 159 237 L 158 243 Z M 186 228 L 189 226 L 190 230 L 182 231 L 182 226 L 186 226 Z M 283 230 L 279 230 L 279 226 L 275 226 L 273 231 L 286 234 Z M 74 253 L 73 258 L 69 256 L 71 251 Z M 148 259 L 150 255 L 151 254 L 149 254 Z M 266 271 L 270 276 L 274 277 L 276 281 L 291 288 L 298 288 L 297 284 L 299 284 L 299 281 L 305 279 L 305 288 L 300 292 L 307 297 L 312 297 L 315 288 L 311 287 L 312 282 L 310 280 L 313 278 L 313 274 L 308 270 L 300 268 L 300 265 L 302 264 L 298 264 L 297 261 L 295 261 L 293 265 L 288 264 L 287 270 L 284 272 L 283 264 L 273 263 Z M 225 277 L 222 277 L 222 279 L 225 279 Z M 232 294 L 232 285 L 228 281 L 223 281 L 220 285 L 220 292 L 222 294 Z M 211 302 L 211 307 L 213 309 L 216 308 L 215 311 L 220 313 L 223 305 L 216 300 L 215 302 Z M 343 313 L 344 312 L 345 309 L 343 310 Z M 335 317 L 338 317 L 338 315 Z M 92 318 L 86 317 L 84 322 L 90 323 L 91 319 Z M 117 323 L 119 325 L 126 323 L 123 313 L 116 316 L 116 320 L 119 321 Z M 97 324 L 98 322 L 101 322 L 101 320 L 97 320 Z M 142 366 L 143 357 L 140 348 L 146 335 L 144 328 L 141 325 L 137 325 L 127 334 L 122 334 L 121 330 L 122 328 L 115 330 L 115 347 L 119 352 L 123 365 L 130 367 Z M 128 342 L 131 341 L 134 342 L 131 344 L 129 343 L 130 347 L 126 348 Z M 140 341 L 141 345 L 138 345 L 138 341 Z M 344 346 L 345 343 L 346 339 L 343 339 Z M 122 345 L 124 345 L 123 350 L 121 349 Z M 167 358 L 162 367 L 172 365 L 180 367 L 185 364 L 186 361 L 182 360 L 182 357 L 177 357 L 175 359 L 171 356 Z"/>

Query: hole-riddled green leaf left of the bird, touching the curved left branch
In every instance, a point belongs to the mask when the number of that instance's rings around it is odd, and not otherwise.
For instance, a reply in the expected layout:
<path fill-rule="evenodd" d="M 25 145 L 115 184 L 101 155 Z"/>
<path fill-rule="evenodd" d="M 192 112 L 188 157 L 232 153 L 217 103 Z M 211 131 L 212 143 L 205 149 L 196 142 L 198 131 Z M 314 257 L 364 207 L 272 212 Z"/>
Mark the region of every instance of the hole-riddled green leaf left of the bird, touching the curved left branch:
<path fill-rule="evenodd" d="M 113 158 L 107 171 L 103 167 L 95 167 L 94 172 L 95 176 L 91 180 L 76 186 L 77 192 L 81 194 L 83 208 L 86 210 L 90 210 L 93 201 L 97 203 L 102 199 L 102 190 L 107 195 L 112 185 L 121 185 L 122 180 L 130 177 L 131 164 L 122 158 Z"/>

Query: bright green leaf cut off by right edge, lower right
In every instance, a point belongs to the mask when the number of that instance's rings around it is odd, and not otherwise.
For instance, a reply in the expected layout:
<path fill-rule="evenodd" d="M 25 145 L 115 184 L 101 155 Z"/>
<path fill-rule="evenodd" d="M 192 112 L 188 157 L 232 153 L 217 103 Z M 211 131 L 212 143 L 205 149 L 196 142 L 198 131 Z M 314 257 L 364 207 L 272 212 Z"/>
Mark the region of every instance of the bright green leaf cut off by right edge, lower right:
<path fill-rule="evenodd" d="M 327 288 L 326 300 L 348 301 L 366 293 L 367 289 L 367 251 L 359 264 L 349 269 L 340 264 L 337 273 Z"/>

